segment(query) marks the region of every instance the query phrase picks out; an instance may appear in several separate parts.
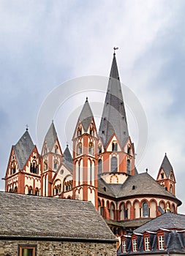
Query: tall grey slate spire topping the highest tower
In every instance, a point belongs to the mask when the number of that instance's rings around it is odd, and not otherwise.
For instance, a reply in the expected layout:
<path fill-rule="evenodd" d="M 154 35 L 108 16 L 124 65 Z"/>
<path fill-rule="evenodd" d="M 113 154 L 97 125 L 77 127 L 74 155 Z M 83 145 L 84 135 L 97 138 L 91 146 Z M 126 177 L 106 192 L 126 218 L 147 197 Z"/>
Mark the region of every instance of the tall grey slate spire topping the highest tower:
<path fill-rule="evenodd" d="M 124 146 L 129 138 L 129 132 L 115 54 L 113 56 L 105 105 L 99 126 L 99 137 L 102 139 L 104 146 L 107 146 L 107 143 L 114 133 L 121 143 L 121 146 Z"/>

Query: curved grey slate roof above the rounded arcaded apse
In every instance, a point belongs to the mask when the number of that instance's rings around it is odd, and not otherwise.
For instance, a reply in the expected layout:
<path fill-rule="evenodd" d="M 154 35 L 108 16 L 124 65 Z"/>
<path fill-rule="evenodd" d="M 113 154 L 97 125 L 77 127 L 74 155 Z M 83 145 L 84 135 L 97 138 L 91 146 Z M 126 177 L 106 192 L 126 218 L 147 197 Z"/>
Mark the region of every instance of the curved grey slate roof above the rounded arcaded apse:
<path fill-rule="evenodd" d="M 161 195 L 163 197 L 171 197 L 177 200 L 178 206 L 181 205 L 180 200 L 160 186 L 148 173 L 138 173 L 135 176 L 129 176 L 124 184 L 107 184 L 102 178 L 99 178 L 98 182 L 99 192 L 110 197 Z"/>

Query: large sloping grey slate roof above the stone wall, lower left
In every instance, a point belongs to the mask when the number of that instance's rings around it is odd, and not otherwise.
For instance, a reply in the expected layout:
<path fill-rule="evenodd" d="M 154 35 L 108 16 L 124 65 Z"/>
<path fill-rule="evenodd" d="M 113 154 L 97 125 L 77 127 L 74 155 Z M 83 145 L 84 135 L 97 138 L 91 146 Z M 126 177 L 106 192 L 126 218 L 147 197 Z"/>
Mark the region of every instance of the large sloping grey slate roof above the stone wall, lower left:
<path fill-rule="evenodd" d="M 114 240 L 91 202 L 0 192 L 0 236 Z"/>

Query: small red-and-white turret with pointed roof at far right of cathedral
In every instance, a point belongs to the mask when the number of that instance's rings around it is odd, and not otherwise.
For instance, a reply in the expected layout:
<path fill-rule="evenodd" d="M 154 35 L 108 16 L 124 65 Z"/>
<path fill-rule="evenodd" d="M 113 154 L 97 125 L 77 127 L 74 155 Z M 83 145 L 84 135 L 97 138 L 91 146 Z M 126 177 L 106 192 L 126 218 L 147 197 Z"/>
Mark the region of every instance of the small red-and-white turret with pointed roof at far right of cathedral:
<path fill-rule="evenodd" d="M 170 164 L 166 154 L 162 161 L 162 165 L 159 168 L 156 181 L 158 181 L 162 187 L 165 187 L 168 192 L 175 196 L 175 175 L 173 172 L 173 167 Z"/>

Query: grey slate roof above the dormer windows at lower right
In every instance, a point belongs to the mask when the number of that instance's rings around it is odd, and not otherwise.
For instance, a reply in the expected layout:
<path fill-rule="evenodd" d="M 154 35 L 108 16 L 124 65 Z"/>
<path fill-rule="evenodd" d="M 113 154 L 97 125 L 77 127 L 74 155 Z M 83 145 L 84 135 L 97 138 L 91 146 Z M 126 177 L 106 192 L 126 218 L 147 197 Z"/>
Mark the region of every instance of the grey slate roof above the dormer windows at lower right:
<path fill-rule="evenodd" d="M 159 230 L 160 228 L 178 228 L 181 230 L 185 230 L 185 215 L 167 212 L 165 214 L 160 215 L 159 217 L 156 217 L 155 219 L 151 219 L 151 221 L 138 227 L 135 230 L 135 233 L 144 233 L 145 231 L 156 231 Z"/>

